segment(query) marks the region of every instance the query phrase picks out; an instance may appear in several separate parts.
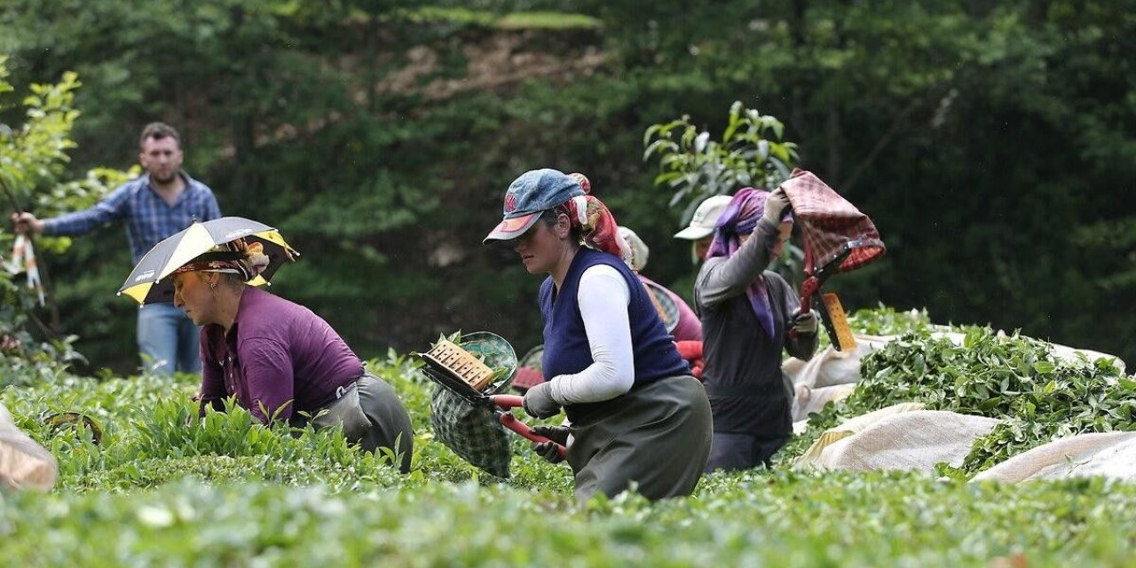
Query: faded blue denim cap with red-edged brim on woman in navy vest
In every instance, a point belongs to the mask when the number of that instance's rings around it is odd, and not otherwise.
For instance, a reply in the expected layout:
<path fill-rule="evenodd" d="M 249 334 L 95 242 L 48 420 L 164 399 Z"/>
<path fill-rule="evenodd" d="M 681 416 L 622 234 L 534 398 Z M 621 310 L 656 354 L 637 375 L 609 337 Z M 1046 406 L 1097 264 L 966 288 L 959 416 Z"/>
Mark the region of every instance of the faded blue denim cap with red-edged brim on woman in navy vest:
<path fill-rule="evenodd" d="M 541 218 L 543 211 L 583 194 L 579 182 L 563 172 L 549 168 L 525 172 L 506 190 L 504 218 L 482 244 L 517 239 Z"/>

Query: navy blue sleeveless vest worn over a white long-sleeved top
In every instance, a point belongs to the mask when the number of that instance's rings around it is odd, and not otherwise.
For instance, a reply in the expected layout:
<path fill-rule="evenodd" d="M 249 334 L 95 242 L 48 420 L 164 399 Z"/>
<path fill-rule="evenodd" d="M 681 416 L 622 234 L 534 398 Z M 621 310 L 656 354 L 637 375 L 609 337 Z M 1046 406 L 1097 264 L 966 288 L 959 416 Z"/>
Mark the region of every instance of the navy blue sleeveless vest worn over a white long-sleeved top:
<path fill-rule="evenodd" d="M 544 359 L 542 361 L 544 376 L 552 378 L 558 375 L 579 373 L 592 365 L 592 350 L 587 343 L 587 332 L 584 319 L 579 315 L 576 292 L 579 289 L 579 277 L 590 267 L 608 265 L 619 272 L 630 289 L 630 303 L 627 307 L 632 328 L 632 352 L 635 357 L 635 384 L 632 389 L 660 378 L 690 375 L 686 360 L 678 354 L 674 340 L 655 311 L 654 304 L 635 273 L 613 254 L 580 248 L 573 258 L 563 286 L 556 291 L 550 276 L 541 284 L 541 315 L 544 317 Z M 574 415 L 588 414 L 592 406 L 602 402 L 570 404 L 565 410 L 568 418 L 576 421 Z"/>

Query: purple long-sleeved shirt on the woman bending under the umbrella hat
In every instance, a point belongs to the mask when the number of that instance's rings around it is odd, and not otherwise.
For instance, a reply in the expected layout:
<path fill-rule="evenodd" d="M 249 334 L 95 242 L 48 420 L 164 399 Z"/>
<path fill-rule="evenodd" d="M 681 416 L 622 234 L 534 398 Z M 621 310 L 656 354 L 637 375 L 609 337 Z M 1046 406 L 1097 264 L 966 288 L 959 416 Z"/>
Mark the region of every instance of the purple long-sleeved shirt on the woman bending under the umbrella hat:
<path fill-rule="evenodd" d="M 362 361 L 327 321 L 257 287 L 244 289 L 227 334 L 216 324 L 201 329 L 202 406 L 219 408 L 236 394 L 265 424 L 274 415 L 287 420 L 296 411 L 314 414 L 362 371 Z"/>

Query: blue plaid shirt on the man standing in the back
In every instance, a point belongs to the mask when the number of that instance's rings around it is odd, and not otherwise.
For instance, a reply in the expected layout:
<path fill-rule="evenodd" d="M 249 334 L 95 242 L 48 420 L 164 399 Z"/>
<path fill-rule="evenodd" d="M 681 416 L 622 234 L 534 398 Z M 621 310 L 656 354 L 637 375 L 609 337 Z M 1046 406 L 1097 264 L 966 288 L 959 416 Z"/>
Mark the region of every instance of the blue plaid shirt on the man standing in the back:
<path fill-rule="evenodd" d="M 178 175 L 185 181 L 185 190 L 173 206 L 150 187 L 150 175 L 145 174 L 124 183 L 90 209 L 45 219 L 43 233 L 76 236 L 125 218 L 126 237 L 131 242 L 134 264 L 137 264 L 154 244 L 189 227 L 194 220 L 220 217 L 220 207 L 212 190 L 184 172 Z"/>

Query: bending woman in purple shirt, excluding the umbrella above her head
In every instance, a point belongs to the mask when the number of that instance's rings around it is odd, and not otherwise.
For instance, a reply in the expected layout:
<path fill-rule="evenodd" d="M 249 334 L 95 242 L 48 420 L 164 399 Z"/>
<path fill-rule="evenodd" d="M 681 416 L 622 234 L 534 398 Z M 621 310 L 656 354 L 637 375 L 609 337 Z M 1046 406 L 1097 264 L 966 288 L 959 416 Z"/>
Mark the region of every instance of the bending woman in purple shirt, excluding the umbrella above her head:
<path fill-rule="evenodd" d="M 202 326 L 202 411 L 235 395 L 266 424 L 342 424 L 350 442 L 391 448 L 409 471 L 414 431 L 394 390 L 323 318 L 248 285 L 268 265 L 260 242 L 236 239 L 174 270 L 174 304 Z"/>

